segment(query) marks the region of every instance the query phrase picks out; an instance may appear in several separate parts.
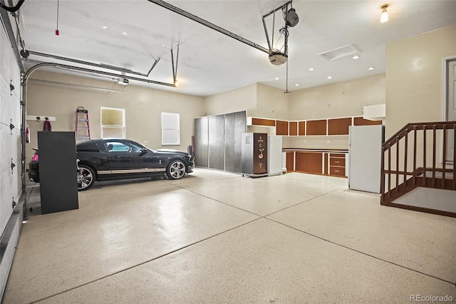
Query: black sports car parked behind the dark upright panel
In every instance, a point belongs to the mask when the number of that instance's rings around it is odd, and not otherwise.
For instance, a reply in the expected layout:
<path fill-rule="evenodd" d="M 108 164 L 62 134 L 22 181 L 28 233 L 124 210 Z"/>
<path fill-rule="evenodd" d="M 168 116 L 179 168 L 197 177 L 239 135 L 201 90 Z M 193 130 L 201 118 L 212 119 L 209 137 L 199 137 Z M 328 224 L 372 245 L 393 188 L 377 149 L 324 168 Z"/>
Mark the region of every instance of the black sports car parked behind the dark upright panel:
<path fill-rule="evenodd" d="M 28 178 L 39 183 L 38 150 L 28 164 Z M 78 190 L 87 190 L 95 181 L 143 178 L 166 173 L 179 179 L 195 167 L 192 156 L 177 150 L 150 150 L 128 139 L 92 139 L 76 145 Z"/>

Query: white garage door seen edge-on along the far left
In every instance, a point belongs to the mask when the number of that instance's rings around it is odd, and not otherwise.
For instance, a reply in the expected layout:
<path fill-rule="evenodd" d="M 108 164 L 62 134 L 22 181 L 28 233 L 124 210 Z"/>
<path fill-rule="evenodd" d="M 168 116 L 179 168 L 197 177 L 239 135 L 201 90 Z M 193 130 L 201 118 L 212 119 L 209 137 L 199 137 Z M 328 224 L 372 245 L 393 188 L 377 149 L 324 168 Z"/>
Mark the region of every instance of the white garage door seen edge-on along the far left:
<path fill-rule="evenodd" d="M 10 90 L 10 84 L 14 90 Z M 21 75 L 19 66 L 0 26 L 0 233 L 4 236 L 6 250 L 0 260 L 0 298 L 4 293 L 4 283 L 14 255 L 14 248 L 19 238 L 22 215 L 13 215 L 13 200 L 19 203 L 21 195 Z M 14 125 L 11 131 L 10 124 Z M 11 161 L 16 165 L 11 172 Z M 14 229 L 13 235 L 4 233 L 5 228 Z M 4 243 L 2 243 L 2 246 Z M 5 248 L 2 248 L 2 250 Z"/>

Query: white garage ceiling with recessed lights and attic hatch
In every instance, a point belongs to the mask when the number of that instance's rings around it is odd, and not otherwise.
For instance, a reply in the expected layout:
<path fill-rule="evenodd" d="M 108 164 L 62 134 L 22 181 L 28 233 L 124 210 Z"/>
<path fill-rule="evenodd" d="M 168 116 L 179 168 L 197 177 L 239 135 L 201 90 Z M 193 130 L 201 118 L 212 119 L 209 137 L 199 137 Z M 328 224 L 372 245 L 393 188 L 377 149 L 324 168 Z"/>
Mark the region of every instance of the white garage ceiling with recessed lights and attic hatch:
<path fill-rule="evenodd" d="M 261 16 L 286 3 L 167 2 L 266 49 Z M 380 6 L 385 3 L 389 4 L 390 20 L 380 24 Z M 172 83 L 170 49 L 179 44 L 177 88 L 130 83 L 196 96 L 209 96 L 256 82 L 286 90 L 285 64 L 274 66 L 263 51 L 150 1 L 60 0 L 59 36 L 55 34 L 57 4 L 57 0 L 26 0 L 21 7 L 24 25 L 21 34 L 27 50 L 119 66 L 142 74 L 147 74 L 155 59 L 160 58 L 148 78 Z M 388 41 L 456 24 L 456 1 L 294 0 L 292 6 L 300 21 L 289 30 L 289 91 L 383 74 Z M 271 18 L 266 19 L 269 35 Z M 276 29 L 283 25 L 281 14 L 276 14 Z M 274 40 L 278 35 L 274 34 Z M 318 56 L 349 44 L 360 51 L 360 59 L 353 60 L 350 56 L 326 61 Z M 34 55 L 29 59 L 62 63 Z M 368 71 L 371 66 L 375 69 Z M 315 71 L 309 71 L 311 67 Z M 327 76 L 333 78 L 328 80 Z M 276 77 L 279 80 L 274 80 Z"/>

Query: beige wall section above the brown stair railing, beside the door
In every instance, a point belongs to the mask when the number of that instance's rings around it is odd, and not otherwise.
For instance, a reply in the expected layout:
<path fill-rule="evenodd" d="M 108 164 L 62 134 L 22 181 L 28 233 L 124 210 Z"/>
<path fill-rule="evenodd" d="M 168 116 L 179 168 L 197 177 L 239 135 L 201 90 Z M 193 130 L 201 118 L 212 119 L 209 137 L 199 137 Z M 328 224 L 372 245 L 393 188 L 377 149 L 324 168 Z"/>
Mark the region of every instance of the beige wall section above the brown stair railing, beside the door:
<path fill-rule="evenodd" d="M 441 121 L 443 65 L 456 56 L 456 24 L 386 46 L 386 137 L 407 123 Z"/>

